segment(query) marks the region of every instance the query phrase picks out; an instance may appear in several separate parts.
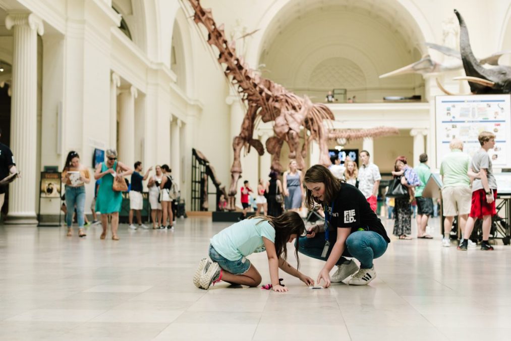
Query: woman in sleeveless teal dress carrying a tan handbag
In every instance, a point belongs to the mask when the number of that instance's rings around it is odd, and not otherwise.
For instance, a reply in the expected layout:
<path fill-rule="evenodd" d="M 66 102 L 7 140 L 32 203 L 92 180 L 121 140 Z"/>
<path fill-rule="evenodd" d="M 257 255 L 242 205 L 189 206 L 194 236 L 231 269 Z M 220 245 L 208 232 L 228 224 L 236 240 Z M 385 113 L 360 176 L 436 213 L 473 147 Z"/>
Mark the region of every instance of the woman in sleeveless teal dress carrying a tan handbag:
<path fill-rule="evenodd" d="M 100 239 L 106 238 L 108 215 L 111 215 L 112 240 L 119 240 L 117 229 L 119 227 L 119 211 L 121 211 L 123 202 L 122 191 L 127 189 L 124 177 L 133 173 L 133 169 L 117 161 L 117 151 L 114 149 L 106 150 L 106 157 L 106 162 L 98 164 L 94 174 L 96 180 L 101 179 L 96 199 L 96 211 L 101 212 L 103 227 Z"/>

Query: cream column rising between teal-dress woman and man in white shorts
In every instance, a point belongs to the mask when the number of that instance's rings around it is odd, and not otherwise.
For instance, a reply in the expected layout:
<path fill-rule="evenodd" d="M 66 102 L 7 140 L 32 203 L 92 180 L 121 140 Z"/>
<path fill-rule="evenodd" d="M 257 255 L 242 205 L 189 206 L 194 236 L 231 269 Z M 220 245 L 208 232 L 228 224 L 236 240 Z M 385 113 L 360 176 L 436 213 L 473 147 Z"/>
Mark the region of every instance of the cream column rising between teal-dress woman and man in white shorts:
<path fill-rule="evenodd" d="M 135 162 L 135 98 L 136 88 L 121 91 L 121 115 L 119 117 L 119 159 L 133 167 Z"/>

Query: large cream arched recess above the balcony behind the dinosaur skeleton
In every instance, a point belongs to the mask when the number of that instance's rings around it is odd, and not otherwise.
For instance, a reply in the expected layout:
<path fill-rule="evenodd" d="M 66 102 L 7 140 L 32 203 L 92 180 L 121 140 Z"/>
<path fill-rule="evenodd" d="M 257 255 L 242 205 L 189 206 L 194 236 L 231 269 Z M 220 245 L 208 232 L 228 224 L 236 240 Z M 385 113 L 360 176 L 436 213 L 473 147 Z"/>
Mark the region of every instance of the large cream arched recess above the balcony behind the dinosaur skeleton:
<path fill-rule="evenodd" d="M 317 97 L 328 90 L 319 84 L 336 84 L 359 99 L 381 101 L 384 95 L 421 94 L 421 76 L 378 76 L 418 60 L 423 42 L 397 0 L 293 0 L 265 31 L 259 60 L 263 76 L 299 94 L 316 90 Z"/>

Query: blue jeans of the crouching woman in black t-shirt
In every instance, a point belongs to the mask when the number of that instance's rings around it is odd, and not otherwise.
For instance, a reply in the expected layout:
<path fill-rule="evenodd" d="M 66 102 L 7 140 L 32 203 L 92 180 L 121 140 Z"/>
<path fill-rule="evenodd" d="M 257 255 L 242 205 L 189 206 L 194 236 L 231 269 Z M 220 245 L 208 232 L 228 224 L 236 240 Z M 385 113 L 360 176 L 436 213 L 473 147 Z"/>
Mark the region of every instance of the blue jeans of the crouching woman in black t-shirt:
<path fill-rule="evenodd" d="M 316 237 L 307 238 L 300 237 L 296 240 L 298 243 L 298 252 L 308 255 L 309 257 L 326 261 L 335 241 L 337 240 L 337 231 L 330 231 L 330 248 L 327 252 L 327 257 L 322 258 L 324 247 L 324 232 L 316 233 Z M 344 257 L 356 258 L 360 262 L 360 267 L 363 269 L 370 269 L 373 267 L 373 260 L 381 257 L 387 250 L 387 241 L 383 239 L 377 232 L 374 231 L 356 231 L 351 233 L 346 239 L 344 251 L 342 256 L 337 261 L 336 265 L 341 265 L 346 261 Z"/>

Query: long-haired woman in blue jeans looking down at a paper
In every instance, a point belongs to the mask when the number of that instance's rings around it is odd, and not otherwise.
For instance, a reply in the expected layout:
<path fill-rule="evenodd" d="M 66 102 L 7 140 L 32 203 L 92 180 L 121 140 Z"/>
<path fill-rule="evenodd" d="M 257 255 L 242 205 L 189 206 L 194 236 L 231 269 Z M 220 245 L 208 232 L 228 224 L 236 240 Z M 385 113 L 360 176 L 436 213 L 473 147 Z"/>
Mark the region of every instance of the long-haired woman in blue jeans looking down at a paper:
<path fill-rule="evenodd" d="M 65 184 L 65 202 L 69 209 L 66 210 L 67 237 L 73 236 L 71 225 L 76 206 L 76 219 L 78 221 L 78 236 L 87 236 L 83 231 L 85 222 L 85 184 L 90 182 L 90 173 L 87 167 L 80 163 L 77 152 L 67 154 L 64 169 L 62 170 L 62 182 Z"/>

